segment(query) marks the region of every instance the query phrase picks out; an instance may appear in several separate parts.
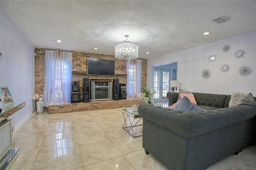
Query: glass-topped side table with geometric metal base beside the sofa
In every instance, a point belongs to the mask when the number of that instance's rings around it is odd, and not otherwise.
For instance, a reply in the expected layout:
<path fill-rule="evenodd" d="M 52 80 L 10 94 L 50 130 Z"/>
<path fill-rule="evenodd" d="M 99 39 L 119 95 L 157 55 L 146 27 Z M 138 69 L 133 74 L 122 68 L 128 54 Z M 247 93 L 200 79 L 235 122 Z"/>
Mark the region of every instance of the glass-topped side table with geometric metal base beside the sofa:
<path fill-rule="evenodd" d="M 142 117 L 138 114 L 138 112 L 132 111 L 129 109 L 122 109 L 124 116 L 124 125 L 123 129 L 132 137 L 136 138 L 138 136 L 142 136 Z"/>

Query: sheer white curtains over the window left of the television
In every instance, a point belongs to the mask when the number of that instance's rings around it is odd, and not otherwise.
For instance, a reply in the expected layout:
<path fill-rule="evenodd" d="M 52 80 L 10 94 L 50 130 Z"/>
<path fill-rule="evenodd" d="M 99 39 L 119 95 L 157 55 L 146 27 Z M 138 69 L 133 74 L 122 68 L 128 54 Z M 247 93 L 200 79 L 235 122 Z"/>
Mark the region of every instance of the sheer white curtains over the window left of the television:
<path fill-rule="evenodd" d="M 70 103 L 72 53 L 45 51 L 44 106 Z"/>

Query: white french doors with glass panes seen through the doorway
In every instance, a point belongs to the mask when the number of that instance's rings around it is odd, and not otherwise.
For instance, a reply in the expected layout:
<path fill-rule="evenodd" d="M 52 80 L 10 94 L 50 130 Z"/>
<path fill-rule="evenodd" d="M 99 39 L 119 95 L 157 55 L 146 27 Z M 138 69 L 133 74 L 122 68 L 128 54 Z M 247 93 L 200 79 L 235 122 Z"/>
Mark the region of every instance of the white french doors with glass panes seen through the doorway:
<path fill-rule="evenodd" d="M 170 70 L 154 69 L 154 101 L 161 101 L 163 96 L 166 96 L 170 87 Z"/>

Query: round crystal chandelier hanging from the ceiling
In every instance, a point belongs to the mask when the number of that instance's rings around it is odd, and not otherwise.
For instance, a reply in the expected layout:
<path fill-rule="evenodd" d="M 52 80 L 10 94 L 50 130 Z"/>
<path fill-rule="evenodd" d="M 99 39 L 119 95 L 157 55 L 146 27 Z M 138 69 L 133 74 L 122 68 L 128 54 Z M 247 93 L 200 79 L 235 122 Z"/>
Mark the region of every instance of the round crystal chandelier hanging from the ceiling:
<path fill-rule="evenodd" d="M 127 40 L 129 35 L 124 35 L 126 40 L 116 44 L 115 57 L 118 59 L 136 59 L 138 58 L 138 44 Z"/>

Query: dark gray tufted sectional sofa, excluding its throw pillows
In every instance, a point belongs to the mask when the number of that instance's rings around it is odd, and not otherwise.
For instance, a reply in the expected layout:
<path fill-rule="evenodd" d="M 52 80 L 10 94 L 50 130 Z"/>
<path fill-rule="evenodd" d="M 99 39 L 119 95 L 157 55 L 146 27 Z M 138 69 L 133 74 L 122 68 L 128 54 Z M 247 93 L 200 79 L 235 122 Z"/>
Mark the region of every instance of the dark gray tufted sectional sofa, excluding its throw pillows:
<path fill-rule="evenodd" d="M 178 93 L 172 94 L 177 101 Z M 256 101 L 228 107 L 230 95 L 193 94 L 198 106 L 209 111 L 139 105 L 146 154 L 152 154 L 170 170 L 204 170 L 238 154 L 248 144 L 255 145 Z M 176 101 L 169 98 L 169 105 Z"/>

